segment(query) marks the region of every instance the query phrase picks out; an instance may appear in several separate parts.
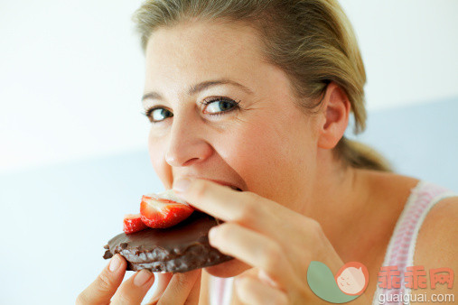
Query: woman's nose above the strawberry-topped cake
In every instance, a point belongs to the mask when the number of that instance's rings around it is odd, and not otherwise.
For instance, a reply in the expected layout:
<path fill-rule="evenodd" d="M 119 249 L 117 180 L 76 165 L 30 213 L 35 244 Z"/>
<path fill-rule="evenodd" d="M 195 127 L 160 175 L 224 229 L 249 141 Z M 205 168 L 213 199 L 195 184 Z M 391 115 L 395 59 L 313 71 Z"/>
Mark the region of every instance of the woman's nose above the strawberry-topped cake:
<path fill-rule="evenodd" d="M 183 120 L 173 116 L 173 125 L 169 134 L 169 143 L 165 152 L 165 162 L 171 166 L 189 166 L 207 160 L 213 149 L 205 140 L 205 132 L 199 122 Z"/>

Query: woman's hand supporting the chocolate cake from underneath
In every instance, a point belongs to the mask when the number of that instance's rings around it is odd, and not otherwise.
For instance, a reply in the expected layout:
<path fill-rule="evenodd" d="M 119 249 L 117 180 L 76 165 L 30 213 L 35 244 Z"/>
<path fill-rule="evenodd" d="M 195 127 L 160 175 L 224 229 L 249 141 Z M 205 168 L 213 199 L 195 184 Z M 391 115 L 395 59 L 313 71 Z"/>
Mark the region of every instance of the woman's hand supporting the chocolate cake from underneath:
<path fill-rule="evenodd" d="M 141 270 L 123 282 L 126 259 L 116 254 L 98 274 L 97 279 L 82 291 L 77 304 L 140 304 L 154 283 L 154 273 Z M 156 273 L 158 287 L 147 304 L 198 304 L 201 290 L 201 269 L 188 273 Z"/>

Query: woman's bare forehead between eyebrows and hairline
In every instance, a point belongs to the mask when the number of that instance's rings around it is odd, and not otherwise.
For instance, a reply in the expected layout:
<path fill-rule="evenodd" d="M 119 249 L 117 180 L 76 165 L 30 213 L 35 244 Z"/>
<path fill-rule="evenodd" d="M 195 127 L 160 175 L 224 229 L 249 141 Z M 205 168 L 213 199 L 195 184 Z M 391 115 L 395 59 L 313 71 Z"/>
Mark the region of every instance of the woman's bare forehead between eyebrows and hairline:
<path fill-rule="evenodd" d="M 200 70 L 248 73 L 262 61 L 257 33 L 248 26 L 211 22 L 177 24 L 152 33 L 146 69 L 182 74 Z M 216 75 L 212 76 L 213 78 Z"/>

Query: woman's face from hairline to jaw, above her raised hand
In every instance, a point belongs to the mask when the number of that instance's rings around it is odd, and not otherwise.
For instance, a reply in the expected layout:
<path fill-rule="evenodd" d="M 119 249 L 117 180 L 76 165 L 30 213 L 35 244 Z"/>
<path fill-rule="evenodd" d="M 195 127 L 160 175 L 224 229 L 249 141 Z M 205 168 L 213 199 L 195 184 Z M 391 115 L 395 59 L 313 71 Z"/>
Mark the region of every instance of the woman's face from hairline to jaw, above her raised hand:
<path fill-rule="evenodd" d="M 301 206 L 313 183 L 316 124 L 259 46 L 257 32 L 238 23 L 181 23 L 151 35 L 144 106 L 166 189 L 192 176 Z"/>

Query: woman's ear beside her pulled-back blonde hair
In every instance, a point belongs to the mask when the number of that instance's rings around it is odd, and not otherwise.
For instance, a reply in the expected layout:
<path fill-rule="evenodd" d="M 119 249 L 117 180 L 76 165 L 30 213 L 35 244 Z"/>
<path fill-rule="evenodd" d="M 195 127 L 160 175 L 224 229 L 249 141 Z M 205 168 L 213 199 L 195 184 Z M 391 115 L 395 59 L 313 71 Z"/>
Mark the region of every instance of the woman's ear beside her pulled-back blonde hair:
<path fill-rule="evenodd" d="M 318 147 L 332 149 L 347 129 L 351 104 L 345 92 L 334 82 L 327 86 L 322 103 Z"/>

